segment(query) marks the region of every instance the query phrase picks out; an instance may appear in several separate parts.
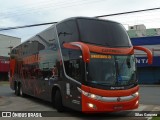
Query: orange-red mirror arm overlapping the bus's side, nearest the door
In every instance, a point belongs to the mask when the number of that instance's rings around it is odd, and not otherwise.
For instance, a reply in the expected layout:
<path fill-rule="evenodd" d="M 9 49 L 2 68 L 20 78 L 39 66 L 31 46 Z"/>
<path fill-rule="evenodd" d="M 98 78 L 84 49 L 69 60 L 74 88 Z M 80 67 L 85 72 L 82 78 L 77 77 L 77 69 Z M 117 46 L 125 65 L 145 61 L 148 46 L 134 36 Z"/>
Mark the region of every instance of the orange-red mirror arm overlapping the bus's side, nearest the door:
<path fill-rule="evenodd" d="M 81 49 L 83 61 L 86 63 L 90 62 L 90 51 L 86 44 L 81 42 L 70 42 L 70 43 L 64 43 L 63 46 L 69 49 Z"/>

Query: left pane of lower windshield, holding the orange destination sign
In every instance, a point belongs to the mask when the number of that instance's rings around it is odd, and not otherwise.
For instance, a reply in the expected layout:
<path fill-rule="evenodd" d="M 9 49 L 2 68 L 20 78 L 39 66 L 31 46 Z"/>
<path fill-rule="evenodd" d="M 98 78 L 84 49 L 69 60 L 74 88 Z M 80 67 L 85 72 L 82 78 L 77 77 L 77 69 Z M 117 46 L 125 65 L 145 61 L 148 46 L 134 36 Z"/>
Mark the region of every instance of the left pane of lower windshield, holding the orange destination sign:
<path fill-rule="evenodd" d="M 91 55 L 90 63 L 87 64 L 87 80 L 98 84 L 114 84 L 116 81 L 116 69 L 114 58 L 107 56 L 100 58 L 98 54 Z"/>

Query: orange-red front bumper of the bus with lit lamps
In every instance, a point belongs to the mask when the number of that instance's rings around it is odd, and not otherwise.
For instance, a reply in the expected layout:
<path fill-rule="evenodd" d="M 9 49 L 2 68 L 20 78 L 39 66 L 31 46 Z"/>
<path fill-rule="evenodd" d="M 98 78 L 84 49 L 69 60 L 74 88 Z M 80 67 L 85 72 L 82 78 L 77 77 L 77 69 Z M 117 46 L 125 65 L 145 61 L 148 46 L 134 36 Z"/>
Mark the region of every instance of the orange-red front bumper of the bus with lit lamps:
<path fill-rule="evenodd" d="M 129 101 L 104 102 L 82 95 L 82 112 L 114 112 L 136 109 L 139 106 L 139 96 Z"/>

